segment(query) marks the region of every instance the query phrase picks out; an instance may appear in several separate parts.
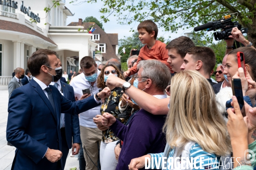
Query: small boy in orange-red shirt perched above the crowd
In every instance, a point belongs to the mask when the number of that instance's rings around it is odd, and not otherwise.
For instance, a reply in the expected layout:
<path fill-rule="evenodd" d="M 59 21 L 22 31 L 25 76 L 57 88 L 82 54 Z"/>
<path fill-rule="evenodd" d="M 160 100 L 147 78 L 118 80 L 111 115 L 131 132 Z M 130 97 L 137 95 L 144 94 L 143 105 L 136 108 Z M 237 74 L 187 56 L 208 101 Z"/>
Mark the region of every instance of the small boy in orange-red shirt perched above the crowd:
<path fill-rule="evenodd" d="M 156 24 L 151 20 L 145 20 L 138 25 L 137 30 L 139 33 L 138 38 L 141 40 L 141 43 L 146 44 L 140 50 L 137 64 L 141 60 L 159 60 L 170 68 L 171 73 L 174 73 L 169 63 L 167 63 L 169 56 L 168 50 L 165 49 L 166 44 L 156 40 L 158 33 Z M 134 75 L 137 72 L 137 66 L 135 65 L 124 72 L 124 77 Z"/>

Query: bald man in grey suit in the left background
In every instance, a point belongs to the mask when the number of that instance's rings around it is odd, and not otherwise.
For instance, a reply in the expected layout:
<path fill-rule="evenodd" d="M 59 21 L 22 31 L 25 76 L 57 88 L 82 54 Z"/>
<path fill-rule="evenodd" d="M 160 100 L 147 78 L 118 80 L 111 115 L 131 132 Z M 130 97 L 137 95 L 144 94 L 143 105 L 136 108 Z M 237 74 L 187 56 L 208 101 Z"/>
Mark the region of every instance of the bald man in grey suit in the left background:
<path fill-rule="evenodd" d="M 12 78 L 12 80 L 8 84 L 9 98 L 11 97 L 13 90 L 23 86 L 20 79 L 24 78 L 24 73 L 25 73 L 24 69 L 20 67 L 15 69 L 15 76 Z"/>

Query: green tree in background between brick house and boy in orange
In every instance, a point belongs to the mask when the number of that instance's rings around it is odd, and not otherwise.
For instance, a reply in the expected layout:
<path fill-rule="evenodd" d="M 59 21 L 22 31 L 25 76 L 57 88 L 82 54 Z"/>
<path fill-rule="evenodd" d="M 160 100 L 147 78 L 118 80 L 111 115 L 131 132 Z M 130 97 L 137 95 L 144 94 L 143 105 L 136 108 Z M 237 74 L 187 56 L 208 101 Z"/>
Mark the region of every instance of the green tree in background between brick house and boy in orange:
<path fill-rule="evenodd" d="M 118 40 L 118 43 L 118 52 L 125 48 L 125 54 L 123 52 L 121 53 L 121 62 L 127 62 L 132 49 L 141 49 L 144 46 L 138 39 L 138 32 L 134 32 L 131 36 Z"/>

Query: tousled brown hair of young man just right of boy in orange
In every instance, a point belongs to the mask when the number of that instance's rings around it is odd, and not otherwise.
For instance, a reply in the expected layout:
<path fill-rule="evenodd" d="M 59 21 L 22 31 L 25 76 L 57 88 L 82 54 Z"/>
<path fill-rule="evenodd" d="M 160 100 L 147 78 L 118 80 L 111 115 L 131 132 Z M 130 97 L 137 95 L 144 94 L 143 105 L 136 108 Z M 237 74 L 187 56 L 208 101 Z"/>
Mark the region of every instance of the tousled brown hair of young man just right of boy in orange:
<path fill-rule="evenodd" d="M 187 50 L 193 46 L 194 42 L 190 38 L 181 36 L 175 38 L 174 40 L 171 40 L 171 42 L 167 44 L 165 49 L 175 48 L 176 52 L 181 56 L 181 58 L 184 58 Z"/>

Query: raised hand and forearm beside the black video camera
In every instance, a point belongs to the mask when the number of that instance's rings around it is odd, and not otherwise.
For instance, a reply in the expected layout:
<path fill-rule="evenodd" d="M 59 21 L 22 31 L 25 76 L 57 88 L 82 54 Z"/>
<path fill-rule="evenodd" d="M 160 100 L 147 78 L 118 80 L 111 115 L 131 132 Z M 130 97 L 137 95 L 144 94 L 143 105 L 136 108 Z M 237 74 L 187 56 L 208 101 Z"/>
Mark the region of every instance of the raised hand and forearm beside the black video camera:
<path fill-rule="evenodd" d="M 232 29 L 231 34 L 232 35 L 229 36 L 230 39 L 225 40 L 226 43 L 227 43 L 227 46 L 226 46 L 227 49 L 226 49 L 225 55 L 227 55 L 230 51 L 233 50 L 234 40 L 242 43 L 246 47 L 251 47 L 251 48 L 255 49 L 254 46 L 252 46 L 253 44 L 245 39 L 244 35 L 242 34 L 242 32 L 237 27 L 234 27 Z"/>

